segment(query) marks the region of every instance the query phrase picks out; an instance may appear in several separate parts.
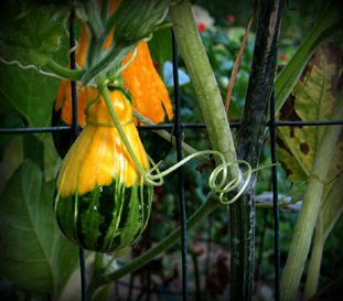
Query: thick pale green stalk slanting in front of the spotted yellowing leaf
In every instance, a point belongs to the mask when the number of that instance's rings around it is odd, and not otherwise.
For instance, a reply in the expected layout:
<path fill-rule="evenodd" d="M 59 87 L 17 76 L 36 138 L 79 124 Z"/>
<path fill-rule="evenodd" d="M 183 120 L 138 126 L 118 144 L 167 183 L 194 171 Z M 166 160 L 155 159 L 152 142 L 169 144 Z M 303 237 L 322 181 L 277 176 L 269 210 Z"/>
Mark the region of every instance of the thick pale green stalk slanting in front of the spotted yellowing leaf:
<path fill-rule="evenodd" d="M 343 116 L 343 89 L 339 95 L 331 116 L 339 120 Z M 342 126 L 328 126 L 315 153 L 313 168 L 304 193 L 290 251 L 281 278 L 281 300 L 293 300 L 299 287 L 303 267 L 309 254 L 314 224 L 325 185 L 330 162 Z"/>

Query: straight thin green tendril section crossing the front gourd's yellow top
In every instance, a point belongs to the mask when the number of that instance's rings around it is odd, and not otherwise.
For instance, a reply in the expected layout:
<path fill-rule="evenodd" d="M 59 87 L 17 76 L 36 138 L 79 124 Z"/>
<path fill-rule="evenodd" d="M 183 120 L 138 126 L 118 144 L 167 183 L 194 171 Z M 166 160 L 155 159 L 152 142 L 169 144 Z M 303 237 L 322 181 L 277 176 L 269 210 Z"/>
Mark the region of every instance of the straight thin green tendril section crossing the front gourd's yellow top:
<path fill-rule="evenodd" d="M 105 100 L 106 107 L 108 109 L 108 112 L 109 112 L 109 115 L 110 115 L 110 117 L 111 117 L 111 119 L 112 119 L 112 121 L 114 121 L 114 123 L 115 123 L 115 126 L 116 126 L 116 128 L 118 130 L 118 133 L 119 133 L 119 136 L 120 136 L 120 138 L 122 140 L 122 143 L 125 144 L 128 153 L 130 154 L 131 160 L 133 161 L 133 163 L 135 163 L 137 170 L 139 171 L 140 175 L 143 176 L 147 172 L 143 169 L 143 166 L 140 164 L 140 162 L 138 161 L 138 159 L 137 159 L 137 157 L 136 157 L 136 154 L 135 154 L 135 152 L 133 152 L 133 150 L 132 150 L 132 148 L 130 146 L 130 142 L 127 139 L 127 137 L 126 137 L 126 135 L 125 135 L 125 132 L 122 130 L 122 127 L 121 127 L 121 123 L 119 121 L 119 118 L 118 118 L 118 116 L 116 114 L 116 110 L 115 110 L 115 108 L 112 106 L 112 103 L 111 103 L 111 99 L 110 99 L 107 86 L 106 85 L 105 86 L 100 86 L 99 93 L 104 97 L 104 100 Z"/>

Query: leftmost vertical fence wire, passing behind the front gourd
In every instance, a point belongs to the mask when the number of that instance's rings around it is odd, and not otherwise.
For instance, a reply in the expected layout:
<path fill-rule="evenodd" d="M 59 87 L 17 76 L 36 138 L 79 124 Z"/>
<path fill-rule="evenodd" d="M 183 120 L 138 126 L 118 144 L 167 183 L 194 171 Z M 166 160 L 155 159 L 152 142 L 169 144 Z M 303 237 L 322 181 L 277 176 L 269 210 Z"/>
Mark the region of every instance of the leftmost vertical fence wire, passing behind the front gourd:
<path fill-rule="evenodd" d="M 75 46 L 75 13 L 72 12 L 69 17 L 69 44 L 71 49 Z M 76 69 L 75 51 L 71 53 L 71 68 Z M 77 89 L 76 82 L 71 80 L 72 87 L 72 106 L 73 106 L 73 138 L 76 140 L 78 136 L 78 122 L 77 122 Z M 85 250 L 79 248 L 79 269 L 81 269 L 81 287 L 82 287 L 82 300 L 87 300 L 87 287 L 86 287 L 86 262 Z"/>

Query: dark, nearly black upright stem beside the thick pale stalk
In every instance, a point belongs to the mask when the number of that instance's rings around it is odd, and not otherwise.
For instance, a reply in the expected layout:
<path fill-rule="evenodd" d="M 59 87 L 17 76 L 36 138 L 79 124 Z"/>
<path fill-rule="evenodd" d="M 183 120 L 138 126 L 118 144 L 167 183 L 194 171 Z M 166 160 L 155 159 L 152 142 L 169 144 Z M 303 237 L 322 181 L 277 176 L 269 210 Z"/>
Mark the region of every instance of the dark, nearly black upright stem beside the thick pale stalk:
<path fill-rule="evenodd" d="M 246 103 L 237 140 L 237 157 L 258 166 L 264 143 L 281 31 L 283 1 L 264 0 L 259 7 L 255 50 Z M 256 174 L 231 205 L 231 300 L 251 300 L 255 250 Z"/>

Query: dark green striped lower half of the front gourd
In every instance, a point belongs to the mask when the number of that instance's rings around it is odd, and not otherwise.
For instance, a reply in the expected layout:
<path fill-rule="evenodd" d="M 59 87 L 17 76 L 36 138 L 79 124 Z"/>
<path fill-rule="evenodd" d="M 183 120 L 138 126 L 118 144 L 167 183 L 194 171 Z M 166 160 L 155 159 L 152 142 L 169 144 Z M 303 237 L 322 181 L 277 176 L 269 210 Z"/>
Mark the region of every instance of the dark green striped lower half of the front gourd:
<path fill-rule="evenodd" d="M 152 190 L 140 185 L 126 187 L 114 179 L 84 195 L 56 195 L 54 211 L 63 234 L 75 245 L 99 252 L 121 249 L 139 237 L 147 226 Z"/>

